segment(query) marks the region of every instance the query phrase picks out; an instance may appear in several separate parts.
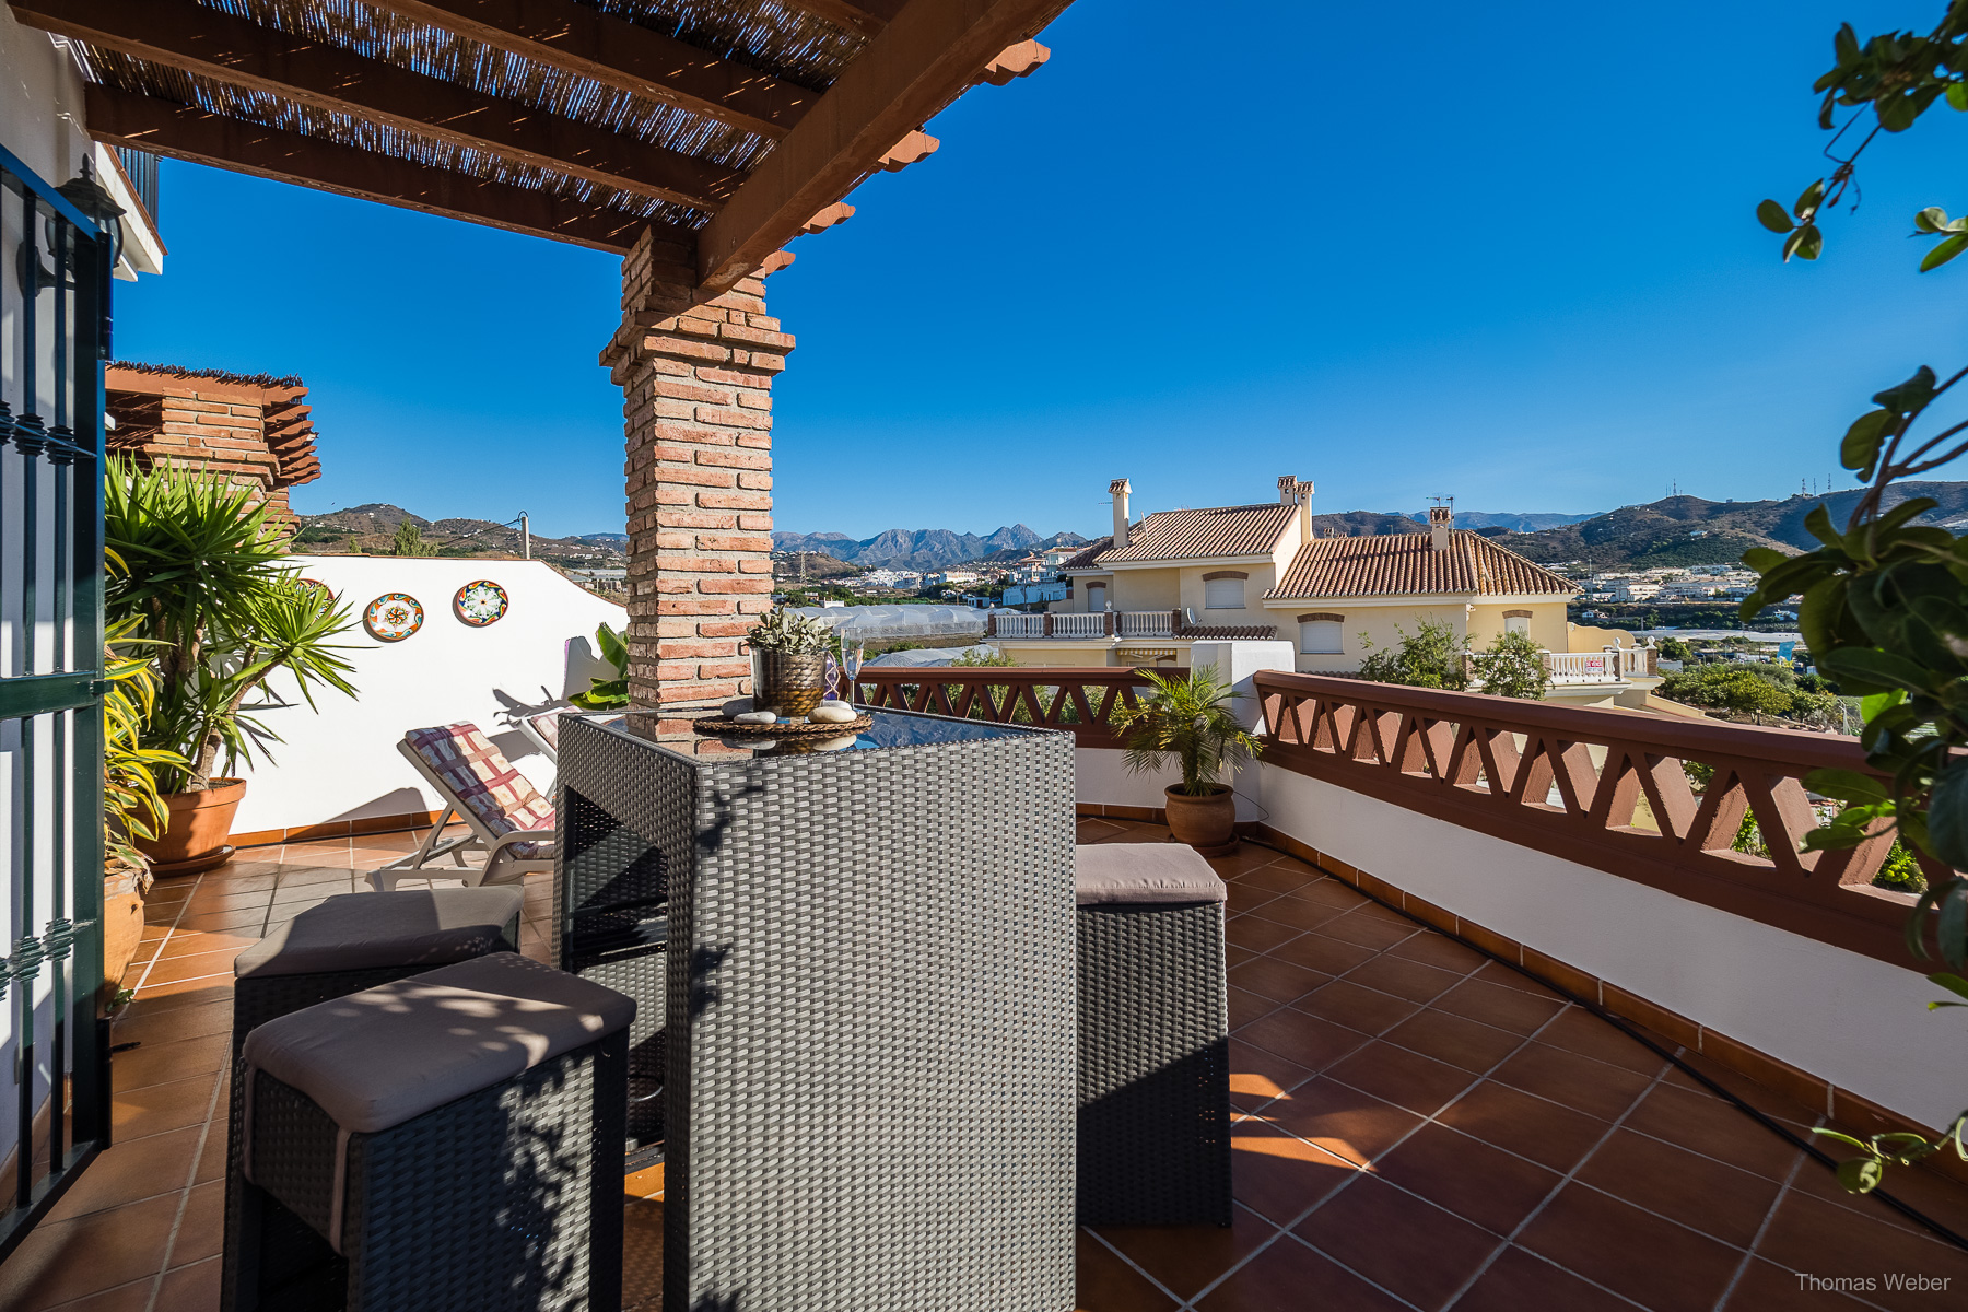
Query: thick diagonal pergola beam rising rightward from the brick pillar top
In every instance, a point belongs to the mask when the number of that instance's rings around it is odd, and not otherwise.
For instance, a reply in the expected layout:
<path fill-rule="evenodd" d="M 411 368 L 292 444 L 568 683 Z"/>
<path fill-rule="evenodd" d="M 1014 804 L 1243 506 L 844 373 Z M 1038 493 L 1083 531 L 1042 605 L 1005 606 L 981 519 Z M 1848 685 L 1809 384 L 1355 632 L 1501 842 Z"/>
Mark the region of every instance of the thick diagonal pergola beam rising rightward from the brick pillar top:
<path fill-rule="evenodd" d="M 701 295 L 728 291 L 799 236 L 907 132 L 1031 37 L 1067 0 L 909 0 L 697 234 Z"/>

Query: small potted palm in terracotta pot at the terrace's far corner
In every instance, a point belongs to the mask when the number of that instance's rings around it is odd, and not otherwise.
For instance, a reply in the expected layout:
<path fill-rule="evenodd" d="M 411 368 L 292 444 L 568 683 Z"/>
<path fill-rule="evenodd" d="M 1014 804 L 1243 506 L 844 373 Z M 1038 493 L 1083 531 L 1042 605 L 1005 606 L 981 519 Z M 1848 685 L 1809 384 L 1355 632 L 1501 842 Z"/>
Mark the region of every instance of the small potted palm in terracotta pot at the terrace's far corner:
<path fill-rule="evenodd" d="M 1230 712 L 1242 692 L 1216 683 L 1212 665 L 1187 679 L 1153 671 L 1141 677 L 1153 690 L 1114 710 L 1114 728 L 1128 744 L 1128 769 L 1153 771 L 1173 755 L 1183 781 L 1163 789 L 1169 832 L 1202 856 L 1226 856 L 1236 848 L 1236 795 L 1222 777 L 1263 751 L 1258 736 Z"/>

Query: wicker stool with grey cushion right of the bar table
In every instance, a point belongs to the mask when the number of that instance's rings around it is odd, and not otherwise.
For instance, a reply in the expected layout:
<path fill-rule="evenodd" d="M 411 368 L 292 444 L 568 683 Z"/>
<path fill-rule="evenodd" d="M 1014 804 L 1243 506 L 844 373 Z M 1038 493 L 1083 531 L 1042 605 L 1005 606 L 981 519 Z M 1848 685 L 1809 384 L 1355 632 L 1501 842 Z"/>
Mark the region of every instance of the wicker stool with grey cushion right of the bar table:
<path fill-rule="evenodd" d="M 1181 844 L 1075 850 L 1078 1218 L 1230 1223 L 1226 889 Z"/>

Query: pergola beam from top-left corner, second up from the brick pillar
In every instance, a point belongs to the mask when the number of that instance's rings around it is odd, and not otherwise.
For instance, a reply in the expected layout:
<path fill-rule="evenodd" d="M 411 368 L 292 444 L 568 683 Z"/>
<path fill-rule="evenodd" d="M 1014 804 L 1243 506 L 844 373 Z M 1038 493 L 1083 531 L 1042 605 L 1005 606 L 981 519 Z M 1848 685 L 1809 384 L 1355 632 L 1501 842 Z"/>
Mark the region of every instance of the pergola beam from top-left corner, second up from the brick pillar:
<path fill-rule="evenodd" d="M 30 26 L 520 165 L 714 210 L 732 169 L 606 128 L 262 28 L 191 0 L 12 0 Z"/>

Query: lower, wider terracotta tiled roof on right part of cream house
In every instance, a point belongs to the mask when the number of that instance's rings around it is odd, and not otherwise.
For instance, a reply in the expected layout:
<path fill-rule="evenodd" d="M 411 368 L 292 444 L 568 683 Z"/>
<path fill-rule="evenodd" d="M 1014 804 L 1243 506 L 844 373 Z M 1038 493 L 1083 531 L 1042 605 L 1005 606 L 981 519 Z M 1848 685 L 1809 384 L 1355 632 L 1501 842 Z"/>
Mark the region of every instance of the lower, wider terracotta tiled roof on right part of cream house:
<path fill-rule="evenodd" d="M 1498 547 L 1488 537 L 1454 529 L 1448 549 L 1435 551 L 1429 533 L 1380 537 L 1319 537 L 1299 547 L 1291 568 L 1265 598 L 1401 596 L 1409 592 L 1541 592 L 1570 596 L 1578 588 L 1543 565 Z"/>

